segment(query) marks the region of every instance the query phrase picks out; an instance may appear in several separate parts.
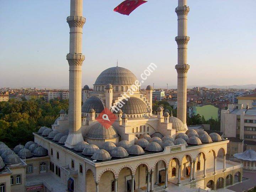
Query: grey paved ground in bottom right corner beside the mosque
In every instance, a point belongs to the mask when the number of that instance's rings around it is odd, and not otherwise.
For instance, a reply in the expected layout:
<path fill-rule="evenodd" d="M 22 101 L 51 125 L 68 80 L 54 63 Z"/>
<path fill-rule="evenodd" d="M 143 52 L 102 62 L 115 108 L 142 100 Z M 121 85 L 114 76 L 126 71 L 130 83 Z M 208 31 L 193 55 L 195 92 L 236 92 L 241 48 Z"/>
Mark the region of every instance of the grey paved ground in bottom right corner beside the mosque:
<path fill-rule="evenodd" d="M 228 187 L 228 189 L 236 192 L 241 192 L 256 186 L 256 173 L 243 172 L 243 177 L 248 178 L 248 180 L 230 186 Z"/>

